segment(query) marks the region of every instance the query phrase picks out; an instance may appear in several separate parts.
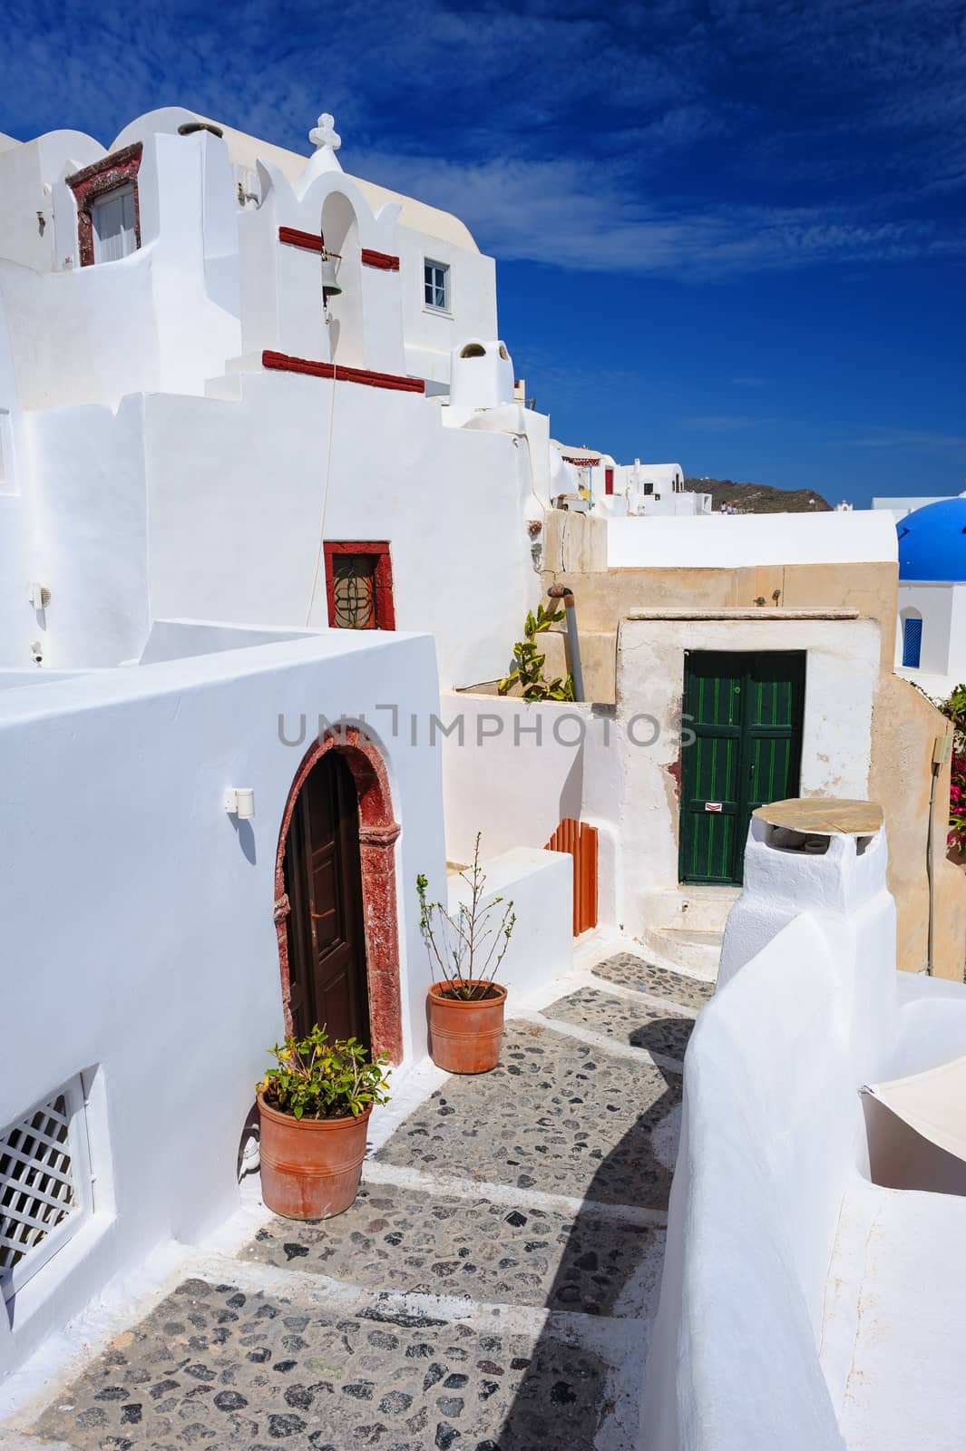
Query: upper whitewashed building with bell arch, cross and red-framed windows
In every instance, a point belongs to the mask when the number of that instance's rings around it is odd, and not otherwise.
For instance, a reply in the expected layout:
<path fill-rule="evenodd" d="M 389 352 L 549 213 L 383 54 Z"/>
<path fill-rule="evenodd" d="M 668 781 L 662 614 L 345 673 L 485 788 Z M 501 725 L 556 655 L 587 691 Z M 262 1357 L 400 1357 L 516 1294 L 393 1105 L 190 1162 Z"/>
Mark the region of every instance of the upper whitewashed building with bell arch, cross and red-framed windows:
<path fill-rule="evenodd" d="M 0 663 L 136 659 L 152 618 L 325 630 L 361 592 L 447 682 L 499 673 L 560 464 L 493 260 L 345 176 L 331 122 L 307 161 L 219 131 L 168 109 L 0 152 Z"/>

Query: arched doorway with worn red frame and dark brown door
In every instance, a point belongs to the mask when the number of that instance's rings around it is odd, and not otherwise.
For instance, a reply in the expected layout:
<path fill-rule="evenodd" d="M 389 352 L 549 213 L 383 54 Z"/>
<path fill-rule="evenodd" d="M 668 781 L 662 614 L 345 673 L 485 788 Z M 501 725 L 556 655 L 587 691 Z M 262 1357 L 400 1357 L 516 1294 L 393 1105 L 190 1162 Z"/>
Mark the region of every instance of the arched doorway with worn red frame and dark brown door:
<path fill-rule="evenodd" d="M 393 1064 L 403 1046 L 399 830 L 384 762 L 348 728 L 316 743 L 299 766 L 276 858 L 286 1032 L 328 1022 L 344 1036 L 348 1027 Z"/>

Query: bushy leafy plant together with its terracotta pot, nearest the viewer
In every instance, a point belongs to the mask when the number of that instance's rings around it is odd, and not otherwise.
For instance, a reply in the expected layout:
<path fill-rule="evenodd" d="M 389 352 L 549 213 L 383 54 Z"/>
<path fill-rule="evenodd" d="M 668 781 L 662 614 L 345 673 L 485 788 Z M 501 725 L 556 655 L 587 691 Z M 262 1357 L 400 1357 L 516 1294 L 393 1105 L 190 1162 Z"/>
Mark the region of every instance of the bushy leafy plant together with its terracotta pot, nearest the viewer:
<path fill-rule="evenodd" d="M 261 1194 L 286 1219 L 329 1219 L 358 1193 L 373 1104 L 386 1103 L 389 1058 L 348 1037 L 329 1043 L 318 1024 L 286 1037 L 258 1082 Z"/>

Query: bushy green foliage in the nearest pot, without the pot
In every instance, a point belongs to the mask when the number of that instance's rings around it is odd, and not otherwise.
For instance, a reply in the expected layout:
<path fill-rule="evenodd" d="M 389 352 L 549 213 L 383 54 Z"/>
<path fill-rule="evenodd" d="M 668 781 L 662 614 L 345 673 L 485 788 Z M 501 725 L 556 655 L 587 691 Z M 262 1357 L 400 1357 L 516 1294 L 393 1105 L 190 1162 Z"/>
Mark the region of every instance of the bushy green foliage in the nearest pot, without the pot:
<path fill-rule="evenodd" d="M 329 1042 L 316 1026 L 307 1037 L 286 1037 L 268 1052 L 277 1066 L 255 1084 L 270 1109 L 296 1119 L 358 1119 L 374 1103 L 386 1103 L 389 1056 L 373 1058 L 355 1037 Z"/>

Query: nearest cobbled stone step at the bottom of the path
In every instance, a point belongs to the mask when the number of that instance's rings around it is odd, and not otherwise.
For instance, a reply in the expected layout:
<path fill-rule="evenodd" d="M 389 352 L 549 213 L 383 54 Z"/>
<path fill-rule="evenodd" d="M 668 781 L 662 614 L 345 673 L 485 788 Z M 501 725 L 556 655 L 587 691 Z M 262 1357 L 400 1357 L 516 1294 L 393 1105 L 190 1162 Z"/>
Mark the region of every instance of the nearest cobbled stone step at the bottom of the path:
<path fill-rule="evenodd" d="M 611 1322 L 587 1323 L 596 1333 L 585 1341 L 570 1316 L 534 1329 L 461 1318 L 447 1302 L 413 1313 L 390 1296 L 339 1306 L 305 1288 L 186 1280 L 57 1394 L 30 1434 L 71 1451 L 278 1441 L 593 1451 L 600 1436 L 631 1451 L 637 1377 L 625 1377 L 615 1406 Z"/>

